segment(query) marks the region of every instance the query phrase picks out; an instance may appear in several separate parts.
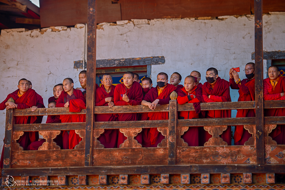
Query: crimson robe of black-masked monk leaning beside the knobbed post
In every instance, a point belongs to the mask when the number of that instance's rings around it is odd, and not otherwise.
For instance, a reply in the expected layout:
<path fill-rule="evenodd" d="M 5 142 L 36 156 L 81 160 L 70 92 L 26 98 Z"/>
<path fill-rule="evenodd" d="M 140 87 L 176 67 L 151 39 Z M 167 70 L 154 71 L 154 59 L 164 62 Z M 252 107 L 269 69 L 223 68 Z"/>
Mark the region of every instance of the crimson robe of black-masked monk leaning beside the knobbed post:
<path fill-rule="evenodd" d="M 152 88 L 148 93 L 143 97 L 143 100 L 147 102 L 153 102 L 156 99 L 159 99 L 159 105 L 169 104 L 170 94 L 176 90 L 176 87 L 172 84 L 166 85 L 163 91 L 158 95 L 158 86 Z M 150 112 L 148 113 L 150 121 L 153 120 L 167 120 L 168 112 Z M 143 147 L 157 147 L 157 145 L 165 137 L 157 130 L 157 128 L 144 128 L 143 129 Z"/>

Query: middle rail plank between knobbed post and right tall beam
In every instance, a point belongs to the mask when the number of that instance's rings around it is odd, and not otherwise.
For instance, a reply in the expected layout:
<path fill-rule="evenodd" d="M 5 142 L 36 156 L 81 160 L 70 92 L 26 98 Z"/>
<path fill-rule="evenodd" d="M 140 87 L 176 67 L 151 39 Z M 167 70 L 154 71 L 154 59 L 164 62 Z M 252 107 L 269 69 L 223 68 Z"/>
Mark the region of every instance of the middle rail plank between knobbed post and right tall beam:
<path fill-rule="evenodd" d="M 178 127 L 218 125 L 255 125 L 255 118 L 179 119 L 177 121 Z"/>

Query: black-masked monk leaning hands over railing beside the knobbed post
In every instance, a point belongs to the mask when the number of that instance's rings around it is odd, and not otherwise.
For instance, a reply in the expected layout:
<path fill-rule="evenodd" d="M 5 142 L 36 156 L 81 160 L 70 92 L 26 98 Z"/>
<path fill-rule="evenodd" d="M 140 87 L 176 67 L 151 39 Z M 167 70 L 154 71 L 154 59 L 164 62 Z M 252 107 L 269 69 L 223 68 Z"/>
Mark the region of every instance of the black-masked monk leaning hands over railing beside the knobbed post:
<path fill-rule="evenodd" d="M 169 104 L 170 94 L 176 90 L 176 87 L 172 84 L 168 84 L 168 75 L 161 72 L 156 78 L 157 85 L 152 88 L 143 97 L 142 105 L 148 106 L 151 110 L 154 110 L 156 106 Z M 153 120 L 165 120 L 168 119 L 168 112 L 155 112 L 148 113 L 150 121 Z M 157 130 L 157 128 L 144 128 L 143 129 L 143 147 L 157 147 L 164 139 L 164 136 Z"/>

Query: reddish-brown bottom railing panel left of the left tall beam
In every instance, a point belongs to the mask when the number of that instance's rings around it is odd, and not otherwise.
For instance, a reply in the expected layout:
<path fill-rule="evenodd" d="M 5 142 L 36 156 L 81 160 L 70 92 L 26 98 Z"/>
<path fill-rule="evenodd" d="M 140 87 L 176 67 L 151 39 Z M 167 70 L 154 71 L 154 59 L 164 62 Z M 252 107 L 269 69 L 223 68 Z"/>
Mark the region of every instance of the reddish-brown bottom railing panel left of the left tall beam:
<path fill-rule="evenodd" d="M 84 167 L 84 149 L 12 152 L 12 168 L 78 166 Z"/>

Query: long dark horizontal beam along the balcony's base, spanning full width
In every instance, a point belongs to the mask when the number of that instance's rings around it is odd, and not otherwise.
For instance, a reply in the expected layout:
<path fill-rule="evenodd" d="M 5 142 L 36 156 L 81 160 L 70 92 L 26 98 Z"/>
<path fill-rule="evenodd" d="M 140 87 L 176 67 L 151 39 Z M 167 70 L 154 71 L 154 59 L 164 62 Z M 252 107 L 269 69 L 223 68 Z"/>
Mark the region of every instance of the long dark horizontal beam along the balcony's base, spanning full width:
<path fill-rule="evenodd" d="M 119 174 L 201 174 L 201 173 L 284 173 L 282 164 L 205 164 L 149 166 L 93 166 L 2 169 L 2 176 L 119 175 Z"/>

